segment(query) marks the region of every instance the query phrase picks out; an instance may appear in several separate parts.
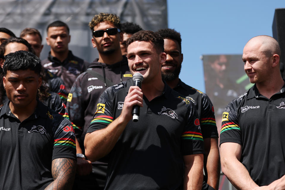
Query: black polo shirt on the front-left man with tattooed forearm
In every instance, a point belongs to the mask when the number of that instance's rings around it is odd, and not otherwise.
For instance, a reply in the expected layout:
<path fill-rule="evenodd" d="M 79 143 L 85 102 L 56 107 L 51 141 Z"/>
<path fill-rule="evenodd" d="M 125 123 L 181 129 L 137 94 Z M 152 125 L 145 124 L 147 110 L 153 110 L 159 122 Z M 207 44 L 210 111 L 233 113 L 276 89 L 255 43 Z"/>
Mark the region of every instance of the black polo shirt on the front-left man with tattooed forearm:
<path fill-rule="evenodd" d="M 45 189 L 52 181 L 53 159 L 76 159 L 71 123 L 38 101 L 24 121 L 0 110 L 0 189 Z"/>

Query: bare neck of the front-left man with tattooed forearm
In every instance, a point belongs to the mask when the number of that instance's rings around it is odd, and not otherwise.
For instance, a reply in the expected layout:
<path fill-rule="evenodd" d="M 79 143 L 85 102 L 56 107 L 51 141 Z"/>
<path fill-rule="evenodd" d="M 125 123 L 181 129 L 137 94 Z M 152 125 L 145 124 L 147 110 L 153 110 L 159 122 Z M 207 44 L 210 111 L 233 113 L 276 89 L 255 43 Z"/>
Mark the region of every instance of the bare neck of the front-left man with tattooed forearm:
<path fill-rule="evenodd" d="M 28 106 L 19 107 L 12 102 L 9 103 L 10 110 L 21 122 L 30 117 L 36 110 L 37 100 L 35 99 Z"/>

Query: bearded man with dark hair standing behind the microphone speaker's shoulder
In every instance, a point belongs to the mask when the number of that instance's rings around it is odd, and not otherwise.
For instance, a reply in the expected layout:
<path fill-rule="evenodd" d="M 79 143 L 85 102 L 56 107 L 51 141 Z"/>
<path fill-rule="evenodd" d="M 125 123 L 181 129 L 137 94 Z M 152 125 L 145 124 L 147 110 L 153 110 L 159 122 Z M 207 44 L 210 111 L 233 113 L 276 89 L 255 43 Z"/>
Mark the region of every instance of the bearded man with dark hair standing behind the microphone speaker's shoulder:
<path fill-rule="evenodd" d="M 165 80 L 173 90 L 190 99 L 198 111 L 205 149 L 205 176 L 202 189 L 218 190 L 220 177 L 219 135 L 215 122 L 213 104 L 205 93 L 186 85 L 179 79 L 183 61 L 180 33 L 174 29 L 160 29 L 157 33 L 164 39 L 164 53 L 167 55 L 166 61 L 162 64 L 162 79 Z"/>

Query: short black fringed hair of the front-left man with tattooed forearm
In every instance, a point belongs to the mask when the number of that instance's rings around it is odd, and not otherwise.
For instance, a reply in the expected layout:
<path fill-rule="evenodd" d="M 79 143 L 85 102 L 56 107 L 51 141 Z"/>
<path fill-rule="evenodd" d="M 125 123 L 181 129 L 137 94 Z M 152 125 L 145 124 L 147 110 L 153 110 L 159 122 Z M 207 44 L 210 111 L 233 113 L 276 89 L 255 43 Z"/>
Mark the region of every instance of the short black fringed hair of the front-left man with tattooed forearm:
<path fill-rule="evenodd" d="M 6 76 L 7 71 L 17 71 L 30 69 L 40 75 L 42 70 L 41 60 L 34 54 L 28 51 L 16 51 L 5 56 L 3 72 Z"/>

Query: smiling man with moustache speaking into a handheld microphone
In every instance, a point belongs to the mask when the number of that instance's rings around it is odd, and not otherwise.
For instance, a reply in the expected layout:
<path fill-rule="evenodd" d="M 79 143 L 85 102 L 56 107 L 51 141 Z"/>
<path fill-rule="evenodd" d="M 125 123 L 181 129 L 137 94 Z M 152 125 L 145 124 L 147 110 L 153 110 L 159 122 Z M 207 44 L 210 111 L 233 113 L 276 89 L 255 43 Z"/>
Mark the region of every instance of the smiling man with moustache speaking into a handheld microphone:
<path fill-rule="evenodd" d="M 129 79 L 107 88 L 99 99 L 84 145 L 91 161 L 110 157 L 105 189 L 202 187 L 203 138 L 197 111 L 163 83 L 163 44 L 153 31 L 133 34 L 126 42 L 128 63 L 132 74 L 143 75 L 142 88 Z M 138 122 L 131 121 L 134 105 L 140 106 Z"/>

